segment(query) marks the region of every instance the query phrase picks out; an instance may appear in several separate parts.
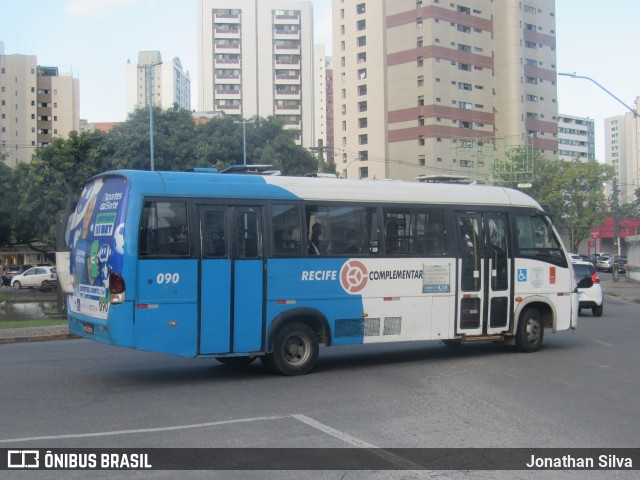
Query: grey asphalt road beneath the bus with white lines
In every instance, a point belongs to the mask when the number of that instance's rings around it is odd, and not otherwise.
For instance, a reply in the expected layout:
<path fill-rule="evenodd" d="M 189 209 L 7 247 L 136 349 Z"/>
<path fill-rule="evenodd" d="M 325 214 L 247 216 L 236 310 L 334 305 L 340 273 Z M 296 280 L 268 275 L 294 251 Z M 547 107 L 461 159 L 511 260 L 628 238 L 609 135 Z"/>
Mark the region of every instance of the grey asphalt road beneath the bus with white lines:
<path fill-rule="evenodd" d="M 546 332 L 533 354 L 437 342 L 332 347 L 303 377 L 259 362 L 88 340 L 0 346 L 0 448 L 638 447 L 640 305 Z M 2 474 L 7 472 L 2 472 Z M 8 472 L 3 478 L 87 478 Z M 606 475 L 603 475 L 605 474 Z M 444 472 L 446 478 L 637 478 L 637 472 Z M 58 475 L 58 476 L 56 476 Z M 443 472 L 190 472 L 180 478 L 433 478 Z M 91 472 L 91 478 L 176 478 Z"/>

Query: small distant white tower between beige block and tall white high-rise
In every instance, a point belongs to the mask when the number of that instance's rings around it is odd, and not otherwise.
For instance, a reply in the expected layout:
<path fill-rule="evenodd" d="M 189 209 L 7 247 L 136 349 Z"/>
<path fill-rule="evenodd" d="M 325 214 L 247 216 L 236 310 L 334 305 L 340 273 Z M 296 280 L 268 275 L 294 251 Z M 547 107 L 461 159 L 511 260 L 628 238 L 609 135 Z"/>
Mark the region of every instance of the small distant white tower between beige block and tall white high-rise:
<path fill-rule="evenodd" d="M 178 57 L 163 62 L 157 50 L 138 52 L 138 63 L 128 62 L 125 75 L 127 113 L 149 105 L 150 86 L 154 106 L 168 109 L 175 104 L 191 110 L 191 79 Z"/>

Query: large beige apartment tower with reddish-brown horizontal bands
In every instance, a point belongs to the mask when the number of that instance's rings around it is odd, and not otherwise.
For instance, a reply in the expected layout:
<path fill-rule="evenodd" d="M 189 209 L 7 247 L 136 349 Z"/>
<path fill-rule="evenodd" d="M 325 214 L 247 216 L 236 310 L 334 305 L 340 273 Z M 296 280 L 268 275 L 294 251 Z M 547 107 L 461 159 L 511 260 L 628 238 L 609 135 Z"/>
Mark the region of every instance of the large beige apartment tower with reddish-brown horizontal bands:
<path fill-rule="evenodd" d="M 349 178 L 491 180 L 557 158 L 553 0 L 333 0 L 334 135 Z"/>

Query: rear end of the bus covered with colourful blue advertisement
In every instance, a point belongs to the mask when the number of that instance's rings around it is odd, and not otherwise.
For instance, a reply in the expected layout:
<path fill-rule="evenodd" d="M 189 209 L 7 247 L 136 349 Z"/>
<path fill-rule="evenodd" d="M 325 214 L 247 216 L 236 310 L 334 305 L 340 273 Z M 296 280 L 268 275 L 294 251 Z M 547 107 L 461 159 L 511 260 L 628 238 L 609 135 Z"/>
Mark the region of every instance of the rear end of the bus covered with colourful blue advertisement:
<path fill-rule="evenodd" d="M 77 313 L 107 316 L 110 273 L 122 271 L 128 187 L 123 177 L 94 179 L 69 218 L 65 241 L 73 254 L 68 289 L 70 307 Z"/>

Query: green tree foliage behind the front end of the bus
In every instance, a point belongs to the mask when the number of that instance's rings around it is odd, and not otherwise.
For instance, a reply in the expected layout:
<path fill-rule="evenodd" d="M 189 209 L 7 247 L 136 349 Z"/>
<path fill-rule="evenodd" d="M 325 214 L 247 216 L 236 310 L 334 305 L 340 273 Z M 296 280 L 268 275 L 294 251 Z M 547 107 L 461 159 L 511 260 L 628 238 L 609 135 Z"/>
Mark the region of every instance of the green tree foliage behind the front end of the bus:
<path fill-rule="evenodd" d="M 547 160 L 540 152 L 526 149 L 513 150 L 509 160 L 516 171 L 533 160 L 531 188 L 523 191 L 549 212 L 556 228 L 569 239 L 567 247 L 577 252 L 591 228 L 606 218 L 603 184 L 613 178 L 614 170 L 598 162 Z M 507 175 L 499 175 L 496 183 L 517 188 Z"/>

